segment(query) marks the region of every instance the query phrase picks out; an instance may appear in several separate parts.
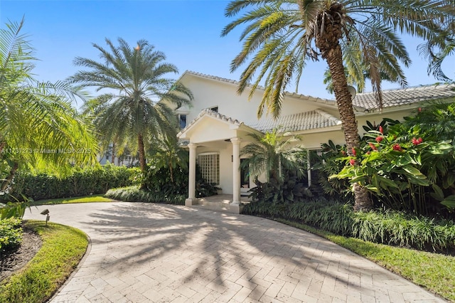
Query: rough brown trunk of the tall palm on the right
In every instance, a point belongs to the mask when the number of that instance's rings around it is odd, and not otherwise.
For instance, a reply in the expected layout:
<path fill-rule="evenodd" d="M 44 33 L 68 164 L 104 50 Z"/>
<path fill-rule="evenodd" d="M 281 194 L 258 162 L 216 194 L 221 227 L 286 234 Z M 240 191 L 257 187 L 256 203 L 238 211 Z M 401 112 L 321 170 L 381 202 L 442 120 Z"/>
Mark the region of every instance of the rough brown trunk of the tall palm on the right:
<path fill-rule="evenodd" d="M 341 122 L 343 122 L 344 137 L 348 154 L 353 156 L 353 149 L 359 147 L 359 137 L 357 121 L 355 120 L 353 102 L 348 90 L 346 75 L 344 73 L 343 54 L 341 46 L 337 43 L 335 48 L 331 48 L 324 57 L 327 60 L 333 79 L 333 90 L 335 92 L 338 111 L 340 112 Z M 354 211 L 368 211 L 373 208 L 373 202 L 368 195 L 368 191 L 360 184 L 354 184 Z"/>

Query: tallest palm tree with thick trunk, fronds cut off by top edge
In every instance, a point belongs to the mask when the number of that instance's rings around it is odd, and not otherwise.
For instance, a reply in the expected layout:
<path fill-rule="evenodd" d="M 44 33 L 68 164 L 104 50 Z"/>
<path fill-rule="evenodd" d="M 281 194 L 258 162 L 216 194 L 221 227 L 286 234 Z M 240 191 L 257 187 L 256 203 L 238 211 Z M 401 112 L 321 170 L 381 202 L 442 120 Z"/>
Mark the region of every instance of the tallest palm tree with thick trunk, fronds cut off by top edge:
<path fill-rule="evenodd" d="M 264 78 L 266 88 L 257 114 L 261 116 L 266 108 L 278 117 L 289 81 L 295 77 L 299 83 L 307 59 L 323 58 L 333 79 L 350 155 L 359 139 L 345 66 L 356 78 L 368 67 L 382 107 L 380 72 L 407 84 L 400 63 L 407 66 L 411 60 L 400 34 L 409 33 L 444 48 L 448 38 L 444 26 L 454 23 L 455 14 L 453 1 L 235 0 L 228 4 L 225 15 L 233 17 L 240 11 L 245 14 L 222 32 L 225 36 L 246 24 L 240 34 L 242 50 L 231 63 L 233 71 L 251 57 L 240 76 L 238 92 L 250 86 L 252 97 Z M 373 207 L 365 188 L 356 184 L 354 193 L 355 210 Z"/>

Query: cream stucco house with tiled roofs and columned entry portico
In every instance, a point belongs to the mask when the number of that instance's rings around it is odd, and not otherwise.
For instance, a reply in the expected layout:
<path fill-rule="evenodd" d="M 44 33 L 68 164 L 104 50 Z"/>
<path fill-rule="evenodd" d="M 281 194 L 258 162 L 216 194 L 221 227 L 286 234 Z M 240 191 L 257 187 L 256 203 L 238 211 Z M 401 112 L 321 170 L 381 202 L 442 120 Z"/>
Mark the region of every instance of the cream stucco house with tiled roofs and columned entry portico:
<path fill-rule="evenodd" d="M 240 211 L 240 199 L 254 186 L 252 176 L 245 181 L 240 170 L 240 149 L 249 141 L 252 132 L 280 132 L 299 134 L 306 149 L 321 149 L 321 144 L 332 140 L 344 144 L 343 128 L 336 102 L 287 92 L 278 119 L 257 119 L 257 107 L 263 87 L 248 101 L 248 92 L 237 93 L 237 81 L 186 71 L 179 79 L 193 92 L 191 106 L 176 110 L 181 124 L 179 139 L 188 142 L 189 192 L 186 206 L 198 204 L 195 195 L 196 161 L 203 178 L 232 195 L 231 211 Z M 400 90 L 382 91 L 383 107 L 378 110 L 373 93 L 361 93 L 353 99 L 359 133 L 368 120 L 380 122 L 382 117 L 401 120 L 429 100 L 455 101 L 455 85 L 427 85 Z"/>

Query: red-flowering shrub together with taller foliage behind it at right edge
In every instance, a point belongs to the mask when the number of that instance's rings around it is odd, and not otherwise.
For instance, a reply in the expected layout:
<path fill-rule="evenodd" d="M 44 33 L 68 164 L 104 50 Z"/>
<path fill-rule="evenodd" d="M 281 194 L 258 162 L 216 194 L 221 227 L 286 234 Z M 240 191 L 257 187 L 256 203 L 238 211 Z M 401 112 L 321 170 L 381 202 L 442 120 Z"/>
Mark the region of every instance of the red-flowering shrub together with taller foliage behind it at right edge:
<path fill-rule="evenodd" d="M 368 122 L 353 156 L 341 151 L 326 161 L 342 168 L 326 183 L 361 184 L 376 206 L 451 216 L 455 209 L 454 112 L 455 104 L 430 104 L 403 123 L 384 119 L 375 126 Z"/>

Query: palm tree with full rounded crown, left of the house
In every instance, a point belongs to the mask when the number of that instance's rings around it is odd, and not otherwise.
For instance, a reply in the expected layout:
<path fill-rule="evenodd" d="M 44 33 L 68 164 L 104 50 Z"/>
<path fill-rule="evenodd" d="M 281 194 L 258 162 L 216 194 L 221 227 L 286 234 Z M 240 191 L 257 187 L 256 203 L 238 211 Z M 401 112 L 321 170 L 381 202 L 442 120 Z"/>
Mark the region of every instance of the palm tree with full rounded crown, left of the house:
<path fill-rule="evenodd" d="M 100 50 L 102 62 L 89 58 L 75 58 L 75 65 L 88 68 L 70 77 L 71 83 L 97 87 L 107 92 L 97 97 L 100 107 L 96 124 L 102 129 L 105 142 L 117 138 L 129 142 L 139 153 L 139 166 L 146 170 L 145 150 L 152 137 L 173 131 L 173 109 L 193 98 L 181 83 L 165 78 L 178 73 L 175 65 L 165 63 L 164 53 L 140 40 L 132 48 L 122 38 L 119 46 L 106 39 L 108 49 L 93 44 Z"/>

